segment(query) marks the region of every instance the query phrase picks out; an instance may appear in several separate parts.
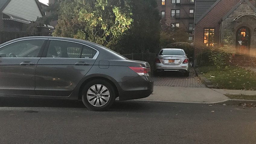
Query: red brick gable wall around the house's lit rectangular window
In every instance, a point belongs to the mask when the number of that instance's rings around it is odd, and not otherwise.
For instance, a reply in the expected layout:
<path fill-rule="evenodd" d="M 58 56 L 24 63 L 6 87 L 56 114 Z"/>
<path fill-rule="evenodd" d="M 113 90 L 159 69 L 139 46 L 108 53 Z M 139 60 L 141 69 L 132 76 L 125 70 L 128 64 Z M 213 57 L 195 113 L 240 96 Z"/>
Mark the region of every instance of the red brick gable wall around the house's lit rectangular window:
<path fill-rule="evenodd" d="M 210 12 L 203 17 L 195 26 L 194 46 L 195 56 L 197 56 L 204 46 L 204 28 L 214 28 L 214 43 L 220 40 L 220 20 L 231 10 L 240 0 L 221 0 Z M 255 1 L 255 0 L 254 0 Z"/>

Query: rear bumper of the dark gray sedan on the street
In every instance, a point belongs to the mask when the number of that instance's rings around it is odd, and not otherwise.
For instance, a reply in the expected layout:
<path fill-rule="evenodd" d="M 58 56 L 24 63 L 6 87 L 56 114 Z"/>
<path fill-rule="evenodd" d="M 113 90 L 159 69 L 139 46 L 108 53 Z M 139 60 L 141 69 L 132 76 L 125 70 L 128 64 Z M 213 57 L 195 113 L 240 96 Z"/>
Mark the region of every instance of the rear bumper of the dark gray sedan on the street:
<path fill-rule="evenodd" d="M 154 84 L 150 77 L 138 76 L 125 82 L 118 82 L 120 85 L 119 100 L 134 100 L 146 98 L 152 94 Z"/>

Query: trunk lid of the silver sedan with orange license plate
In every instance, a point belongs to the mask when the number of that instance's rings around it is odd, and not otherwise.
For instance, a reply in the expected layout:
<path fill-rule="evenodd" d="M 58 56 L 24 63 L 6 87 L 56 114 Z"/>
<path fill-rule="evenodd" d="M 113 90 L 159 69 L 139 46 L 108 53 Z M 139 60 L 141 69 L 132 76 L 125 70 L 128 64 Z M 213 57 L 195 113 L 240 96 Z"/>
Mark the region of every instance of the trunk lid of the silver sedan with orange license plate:
<path fill-rule="evenodd" d="M 185 57 L 184 56 L 160 56 L 159 57 L 160 61 L 162 62 L 162 64 L 165 65 L 180 65 Z"/>

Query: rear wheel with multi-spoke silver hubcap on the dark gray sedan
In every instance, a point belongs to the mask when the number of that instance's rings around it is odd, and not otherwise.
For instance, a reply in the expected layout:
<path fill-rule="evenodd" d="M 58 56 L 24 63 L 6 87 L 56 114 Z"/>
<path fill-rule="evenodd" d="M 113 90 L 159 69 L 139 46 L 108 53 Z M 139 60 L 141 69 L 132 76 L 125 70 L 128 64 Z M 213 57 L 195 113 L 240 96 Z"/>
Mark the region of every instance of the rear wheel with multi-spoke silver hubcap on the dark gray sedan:
<path fill-rule="evenodd" d="M 109 82 L 103 79 L 94 79 L 85 84 L 82 101 L 89 110 L 105 111 L 113 105 L 116 99 L 115 94 L 115 89 Z"/>

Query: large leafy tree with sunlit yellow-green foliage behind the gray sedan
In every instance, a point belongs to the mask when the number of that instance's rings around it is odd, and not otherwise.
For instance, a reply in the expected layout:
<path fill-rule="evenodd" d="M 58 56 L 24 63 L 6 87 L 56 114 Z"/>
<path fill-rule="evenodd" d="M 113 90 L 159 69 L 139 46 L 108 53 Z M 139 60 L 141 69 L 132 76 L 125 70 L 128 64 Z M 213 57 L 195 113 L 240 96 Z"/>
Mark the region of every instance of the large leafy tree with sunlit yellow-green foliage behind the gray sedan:
<path fill-rule="evenodd" d="M 130 0 L 65 0 L 53 36 L 92 41 L 113 48 L 130 29 Z"/>

